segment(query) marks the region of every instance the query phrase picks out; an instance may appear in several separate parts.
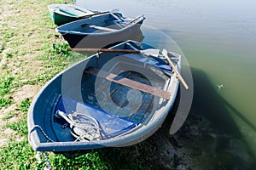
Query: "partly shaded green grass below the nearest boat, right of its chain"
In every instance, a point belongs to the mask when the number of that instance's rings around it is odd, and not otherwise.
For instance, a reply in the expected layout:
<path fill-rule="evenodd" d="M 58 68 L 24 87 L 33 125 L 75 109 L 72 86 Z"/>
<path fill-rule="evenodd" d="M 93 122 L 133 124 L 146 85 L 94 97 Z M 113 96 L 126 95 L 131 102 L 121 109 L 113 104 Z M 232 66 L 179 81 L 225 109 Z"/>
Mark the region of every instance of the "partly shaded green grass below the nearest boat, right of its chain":
<path fill-rule="evenodd" d="M 153 167 L 150 157 L 154 151 L 151 150 L 152 148 L 154 147 L 149 142 L 143 142 L 125 148 L 93 150 L 85 154 L 50 155 L 49 157 L 55 167 L 65 166 L 65 169 L 150 169 Z"/>

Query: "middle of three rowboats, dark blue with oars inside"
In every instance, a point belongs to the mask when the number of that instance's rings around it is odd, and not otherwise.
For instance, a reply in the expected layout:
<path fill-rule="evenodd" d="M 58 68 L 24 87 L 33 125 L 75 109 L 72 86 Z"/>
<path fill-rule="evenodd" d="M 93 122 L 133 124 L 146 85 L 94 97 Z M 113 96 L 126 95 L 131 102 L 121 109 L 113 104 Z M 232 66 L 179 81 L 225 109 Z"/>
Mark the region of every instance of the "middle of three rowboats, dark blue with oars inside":
<path fill-rule="evenodd" d="M 77 20 L 56 28 L 71 48 L 102 48 L 116 42 L 133 39 L 140 31 L 145 17 L 128 19 L 119 13 L 108 12 Z"/>

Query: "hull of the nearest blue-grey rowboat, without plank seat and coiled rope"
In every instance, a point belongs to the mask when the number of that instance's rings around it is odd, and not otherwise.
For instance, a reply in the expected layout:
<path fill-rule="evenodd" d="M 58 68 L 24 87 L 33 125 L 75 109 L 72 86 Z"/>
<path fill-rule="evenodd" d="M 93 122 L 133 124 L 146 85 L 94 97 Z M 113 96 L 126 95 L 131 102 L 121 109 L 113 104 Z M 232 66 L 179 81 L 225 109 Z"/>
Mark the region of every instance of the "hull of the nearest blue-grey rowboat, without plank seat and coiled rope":
<path fill-rule="evenodd" d="M 133 45 L 138 50 L 143 50 L 139 43 L 132 41 L 120 43 L 113 48 L 127 48 L 128 44 Z M 122 147 L 137 144 L 152 135 L 172 109 L 179 82 L 172 69 L 163 74 L 163 70 L 157 70 L 155 65 L 152 65 L 147 59 L 147 63 L 143 61 L 145 59 L 140 54 L 101 53 L 100 58 L 97 55 L 92 55 L 90 58 L 62 71 L 49 81 L 32 100 L 32 105 L 28 111 L 28 138 L 33 150 L 57 152 Z M 144 65 L 148 66 L 145 67 Z M 180 70 L 180 56 L 177 57 L 176 66 Z M 112 82 L 108 86 L 109 79 L 100 79 L 100 82 L 97 82 L 99 78 L 89 74 L 88 69 L 91 67 L 100 68 L 101 71 L 119 71 L 117 73 L 119 75 L 127 73 L 131 79 L 130 82 L 136 80 L 137 83 L 143 83 L 142 86 L 162 88 L 166 90 L 166 93 L 172 92 L 172 96 L 170 99 L 163 99 L 148 94 L 148 92 L 144 93 L 134 88 L 127 88 L 123 84 L 119 85 L 118 82 Z M 94 79 L 90 79 L 91 77 Z M 119 80 L 119 78 L 116 77 L 115 80 Z M 104 86 L 106 88 L 102 88 Z M 109 87 L 110 91 L 114 90 L 111 92 L 111 100 L 114 102 L 112 106 L 108 105 L 110 100 L 100 97 L 106 90 L 109 90 Z M 126 97 L 124 98 L 124 96 Z M 104 102 L 101 103 L 101 101 Z M 106 101 L 108 102 L 106 103 Z M 138 107 L 137 103 L 140 103 Z M 131 111 L 134 108 L 137 108 L 136 111 Z M 94 116 L 101 125 L 101 132 L 109 135 L 104 134 L 99 140 L 76 141 L 70 133 L 72 127 L 63 127 L 64 124 L 56 118 L 56 111 L 60 110 L 71 114 L 73 111 L 84 112 L 84 114 Z"/>

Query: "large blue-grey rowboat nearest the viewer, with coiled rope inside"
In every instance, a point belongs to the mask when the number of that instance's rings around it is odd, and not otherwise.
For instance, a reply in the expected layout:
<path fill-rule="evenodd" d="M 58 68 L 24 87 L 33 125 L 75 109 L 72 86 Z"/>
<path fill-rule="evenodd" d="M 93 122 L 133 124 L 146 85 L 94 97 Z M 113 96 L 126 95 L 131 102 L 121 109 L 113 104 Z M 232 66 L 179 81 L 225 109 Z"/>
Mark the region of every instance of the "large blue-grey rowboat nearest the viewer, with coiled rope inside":
<path fill-rule="evenodd" d="M 180 71 L 181 56 L 134 41 L 97 51 L 55 76 L 32 100 L 27 125 L 33 150 L 137 144 L 165 120 L 179 87 L 165 57 Z"/>

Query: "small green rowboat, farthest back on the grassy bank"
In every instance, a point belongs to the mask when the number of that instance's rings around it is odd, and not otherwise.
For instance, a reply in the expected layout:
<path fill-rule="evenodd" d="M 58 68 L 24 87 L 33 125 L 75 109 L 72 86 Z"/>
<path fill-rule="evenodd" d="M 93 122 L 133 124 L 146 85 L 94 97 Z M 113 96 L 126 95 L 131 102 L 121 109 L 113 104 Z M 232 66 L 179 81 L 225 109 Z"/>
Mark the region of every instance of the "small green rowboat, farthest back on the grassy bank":
<path fill-rule="evenodd" d="M 73 4 L 56 3 L 49 5 L 48 9 L 50 18 L 57 26 L 96 14 L 96 12 L 90 11 L 87 8 L 82 8 Z"/>

